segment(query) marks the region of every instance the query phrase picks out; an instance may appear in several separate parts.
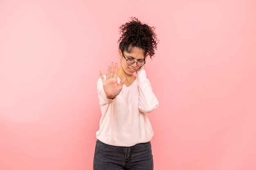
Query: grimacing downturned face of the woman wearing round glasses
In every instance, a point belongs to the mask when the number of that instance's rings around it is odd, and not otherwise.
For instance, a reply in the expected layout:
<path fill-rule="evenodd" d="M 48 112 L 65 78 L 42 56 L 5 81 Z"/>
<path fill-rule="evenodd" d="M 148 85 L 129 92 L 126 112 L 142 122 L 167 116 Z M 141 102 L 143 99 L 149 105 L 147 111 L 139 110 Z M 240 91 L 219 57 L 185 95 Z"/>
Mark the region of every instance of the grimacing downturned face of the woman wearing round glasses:
<path fill-rule="evenodd" d="M 124 56 L 123 56 L 124 54 Z M 136 70 L 138 70 L 140 67 L 137 66 L 137 61 L 144 61 L 144 52 L 141 48 L 134 47 L 132 52 L 126 52 L 123 51 L 123 54 L 121 50 L 119 50 L 119 59 L 120 59 L 120 67 L 124 72 L 128 75 L 132 75 Z M 128 65 L 126 63 L 126 59 L 133 59 L 135 63 L 132 65 Z"/>

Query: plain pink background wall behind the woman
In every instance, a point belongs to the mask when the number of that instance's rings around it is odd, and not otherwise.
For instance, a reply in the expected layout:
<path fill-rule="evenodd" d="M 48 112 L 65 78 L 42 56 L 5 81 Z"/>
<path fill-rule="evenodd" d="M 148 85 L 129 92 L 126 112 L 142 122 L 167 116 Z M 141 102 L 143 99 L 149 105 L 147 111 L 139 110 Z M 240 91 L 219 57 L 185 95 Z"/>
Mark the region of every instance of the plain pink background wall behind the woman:
<path fill-rule="evenodd" d="M 156 27 L 155 170 L 256 170 L 256 1 L 0 0 L 0 169 L 92 170 L 99 70 Z"/>

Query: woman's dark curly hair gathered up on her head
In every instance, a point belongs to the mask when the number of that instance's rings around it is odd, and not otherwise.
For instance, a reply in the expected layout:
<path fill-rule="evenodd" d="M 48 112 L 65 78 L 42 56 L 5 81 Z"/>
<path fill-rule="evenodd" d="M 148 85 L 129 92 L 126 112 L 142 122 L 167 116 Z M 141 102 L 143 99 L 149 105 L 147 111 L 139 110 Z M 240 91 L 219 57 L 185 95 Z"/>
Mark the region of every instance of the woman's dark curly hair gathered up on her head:
<path fill-rule="evenodd" d="M 150 58 L 157 50 L 157 40 L 155 27 L 142 24 L 137 18 L 130 17 L 131 21 L 119 27 L 121 37 L 119 38 L 119 49 L 121 51 L 132 52 L 134 47 L 144 50 L 144 56 L 148 54 Z"/>

